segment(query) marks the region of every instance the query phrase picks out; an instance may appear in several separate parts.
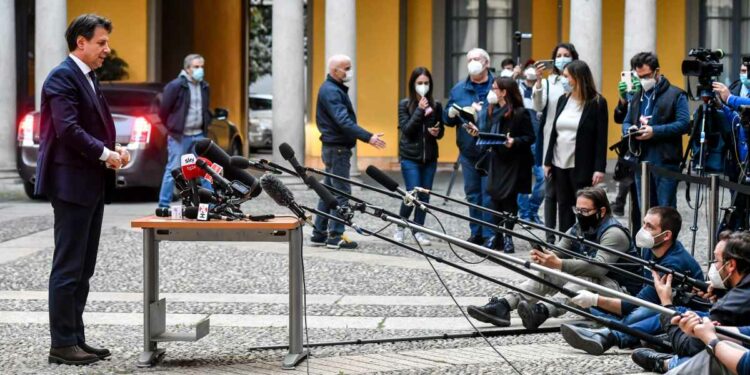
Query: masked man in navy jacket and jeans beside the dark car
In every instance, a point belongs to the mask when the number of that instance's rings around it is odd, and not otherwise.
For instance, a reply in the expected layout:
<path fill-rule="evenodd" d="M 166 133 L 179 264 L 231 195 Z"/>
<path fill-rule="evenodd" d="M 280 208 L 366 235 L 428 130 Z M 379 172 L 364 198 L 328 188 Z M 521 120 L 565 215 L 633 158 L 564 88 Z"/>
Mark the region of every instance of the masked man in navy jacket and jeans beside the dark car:
<path fill-rule="evenodd" d="M 164 86 L 159 117 L 167 127 L 167 165 L 159 192 L 159 207 L 172 202 L 172 170 L 180 167 L 180 156 L 193 153 L 195 142 L 205 138 L 211 123 L 208 83 L 203 80 L 205 60 L 201 55 L 185 57 L 183 70 Z"/>

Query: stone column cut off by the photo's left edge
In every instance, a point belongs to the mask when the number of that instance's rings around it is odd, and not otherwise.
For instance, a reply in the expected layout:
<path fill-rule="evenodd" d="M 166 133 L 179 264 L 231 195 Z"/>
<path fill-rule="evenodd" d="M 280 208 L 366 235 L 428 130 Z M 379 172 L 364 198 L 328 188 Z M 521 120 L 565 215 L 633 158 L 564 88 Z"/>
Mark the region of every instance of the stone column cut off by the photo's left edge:
<path fill-rule="evenodd" d="M 14 0 L 0 0 L 0 171 L 14 170 L 16 160 L 16 12 Z"/>

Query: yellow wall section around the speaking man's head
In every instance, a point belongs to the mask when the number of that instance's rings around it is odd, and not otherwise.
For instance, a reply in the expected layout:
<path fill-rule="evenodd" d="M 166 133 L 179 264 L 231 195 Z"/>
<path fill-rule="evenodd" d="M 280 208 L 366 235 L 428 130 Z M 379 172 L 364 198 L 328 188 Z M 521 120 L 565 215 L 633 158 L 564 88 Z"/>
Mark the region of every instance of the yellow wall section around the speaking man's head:
<path fill-rule="evenodd" d="M 125 81 L 143 82 L 147 77 L 147 0 L 67 0 L 68 22 L 84 13 L 112 20 L 110 48 L 128 63 Z M 62 39 L 60 40 L 62 43 Z"/>

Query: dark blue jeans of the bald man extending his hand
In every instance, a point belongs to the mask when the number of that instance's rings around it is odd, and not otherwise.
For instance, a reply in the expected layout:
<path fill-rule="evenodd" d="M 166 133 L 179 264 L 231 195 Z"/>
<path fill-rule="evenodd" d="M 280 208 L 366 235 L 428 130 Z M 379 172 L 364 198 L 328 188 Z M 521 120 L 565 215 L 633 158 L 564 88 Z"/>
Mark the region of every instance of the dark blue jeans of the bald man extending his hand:
<path fill-rule="evenodd" d="M 352 149 L 344 146 L 330 146 L 323 145 L 322 149 L 323 164 L 326 167 L 326 172 L 334 174 L 339 177 L 349 178 L 349 169 L 351 168 L 350 159 L 352 157 Z M 333 186 L 345 193 L 352 192 L 352 187 L 348 182 L 339 181 L 330 177 L 323 179 L 323 183 Z M 336 200 L 339 206 L 349 204 L 349 200 L 340 195 L 336 196 Z M 338 216 L 336 210 L 329 210 L 326 203 L 323 200 L 318 201 L 318 211 L 328 212 L 332 216 Z M 314 237 L 328 237 L 329 239 L 341 238 L 344 234 L 344 224 L 331 220 L 323 216 L 315 217 L 315 228 L 313 228 Z"/>

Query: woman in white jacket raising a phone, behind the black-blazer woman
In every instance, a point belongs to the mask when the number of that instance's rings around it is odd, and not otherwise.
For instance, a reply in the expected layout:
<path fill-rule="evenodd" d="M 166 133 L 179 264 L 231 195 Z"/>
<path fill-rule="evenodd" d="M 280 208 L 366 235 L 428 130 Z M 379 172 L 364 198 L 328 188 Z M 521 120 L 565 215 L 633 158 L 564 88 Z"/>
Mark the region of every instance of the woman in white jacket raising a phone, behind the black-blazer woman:
<path fill-rule="evenodd" d="M 555 120 L 555 108 L 557 108 L 558 99 L 565 93 L 561 82 L 561 74 L 565 65 L 571 61 L 578 60 L 578 52 L 575 46 L 570 43 L 560 43 L 552 50 L 552 60 L 555 64 L 552 73 L 545 79 L 541 79 L 544 74 L 542 64 L 536 65 L 536 76 L 538 77 L 532 93 L 534 110 L 539 112 L 539 124 L 541 134 L 537 134 L 537 145 L 541 144 L 542 159 L 547 154 L 549 137 L 552 133 L 552 123 Z M 540 163 L 543 160 L 539 161 Z M 548 228 L 555 228 L 557 222 L 557 198 L 554 195 L 555 190 L 549 181 L 544 187 L 544 225 Z M 555 236 L 547 233 L 547 242 L 555 242 Z"/>

